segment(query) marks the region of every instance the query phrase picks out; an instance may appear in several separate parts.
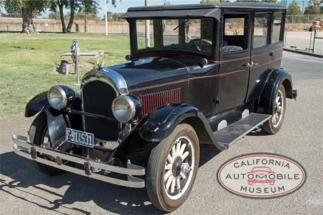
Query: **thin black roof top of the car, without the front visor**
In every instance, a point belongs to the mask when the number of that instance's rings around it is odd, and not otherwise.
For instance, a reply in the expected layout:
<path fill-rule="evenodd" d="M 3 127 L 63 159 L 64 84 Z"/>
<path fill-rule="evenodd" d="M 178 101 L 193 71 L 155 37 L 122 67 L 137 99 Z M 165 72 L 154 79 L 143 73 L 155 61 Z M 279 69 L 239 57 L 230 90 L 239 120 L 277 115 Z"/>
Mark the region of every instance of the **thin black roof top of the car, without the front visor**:
<path fill-rule="evenodd" d="M 228 3 L 228 4 L 190 4 L 190 5 L 161 5 L 161 6 L 145 6 L 132 7 L 131 11 L 174 11 L 174 10 L 199 10 L 211 8 L 237 8 L 237 9 L 286 9 L 282 4 L 274 3 Z"/>

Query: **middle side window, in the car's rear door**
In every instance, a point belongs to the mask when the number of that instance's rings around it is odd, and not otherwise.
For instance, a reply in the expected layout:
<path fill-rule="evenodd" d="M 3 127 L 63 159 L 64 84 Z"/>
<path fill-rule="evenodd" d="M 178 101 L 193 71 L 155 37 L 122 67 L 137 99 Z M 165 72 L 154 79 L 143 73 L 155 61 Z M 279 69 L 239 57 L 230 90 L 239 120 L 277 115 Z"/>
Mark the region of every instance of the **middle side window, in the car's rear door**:
<path fill-rule="evenodd" d="M 268 44 L 270 14 L 255 14 L 253 23 L 253 48 Z"/>

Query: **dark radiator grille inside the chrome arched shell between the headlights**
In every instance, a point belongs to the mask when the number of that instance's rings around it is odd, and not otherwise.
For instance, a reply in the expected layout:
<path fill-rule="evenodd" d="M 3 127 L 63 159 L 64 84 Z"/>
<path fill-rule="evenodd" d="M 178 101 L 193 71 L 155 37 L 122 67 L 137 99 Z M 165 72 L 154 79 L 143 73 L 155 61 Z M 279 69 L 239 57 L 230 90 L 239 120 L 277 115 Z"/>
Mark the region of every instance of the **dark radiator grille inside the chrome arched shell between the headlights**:
<path fill-rule="evenodd" d="M 115 118 L 111 105 L 116 98 L 116 91 L 102 81 L 86 83 L 82 89 L 83 110 L 85 112 Z M 94 134 L 95 138 L 109 141 L 117 141 L 119 135 L 119 123 L 102 118 L 84 116 L 84 130 Z"/>

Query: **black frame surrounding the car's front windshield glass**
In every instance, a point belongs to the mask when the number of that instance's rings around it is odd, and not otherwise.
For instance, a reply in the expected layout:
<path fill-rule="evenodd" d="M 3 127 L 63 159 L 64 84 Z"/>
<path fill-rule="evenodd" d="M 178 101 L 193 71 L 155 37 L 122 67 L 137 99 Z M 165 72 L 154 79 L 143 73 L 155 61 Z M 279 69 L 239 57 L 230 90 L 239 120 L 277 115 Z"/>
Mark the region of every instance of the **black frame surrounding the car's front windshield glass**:
<path fill-rule="evenodd" d="M 137 29 L 136 29 L 136 20 L 152 20 L 152 19 L 161 19 L 161 20 L 174 20 L 174 19 L 212 19 L 213 20 L 213 30 L 212 30 L 212 50 L 210 54 L 198 53 L 195 51 L 184 50 L 184 49 L 174 49 L 174 48 L 163 48 L 163 49 L 138 49 L 137 47 Z M 149 17 L 143 19 L 128 19 L 129 28 L 130 28 L 130 46 L 131 46 L 131 56 L 132 58 L 141 58 L 145 56 L 167 56 L 167 55 L 187 55 L 194 56 L 199 58 L 206 58 L 214 60 L 215 50 L 217 46 L 217 25 L 218 21 L 215 18 L 211 17 Z"/>

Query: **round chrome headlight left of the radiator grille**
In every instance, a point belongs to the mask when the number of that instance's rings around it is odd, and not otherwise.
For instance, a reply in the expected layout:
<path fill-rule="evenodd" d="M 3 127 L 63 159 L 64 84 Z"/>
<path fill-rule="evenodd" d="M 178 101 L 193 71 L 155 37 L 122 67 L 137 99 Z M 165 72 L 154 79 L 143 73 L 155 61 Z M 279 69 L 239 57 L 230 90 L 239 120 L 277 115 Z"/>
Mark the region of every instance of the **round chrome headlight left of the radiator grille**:
<path fill-rule="evenodd" d="M 60 86 L 53 86 L 48 90 L 47 99 L 52 108 L 61 110 L 67 105 L 67 96 Z"/>

